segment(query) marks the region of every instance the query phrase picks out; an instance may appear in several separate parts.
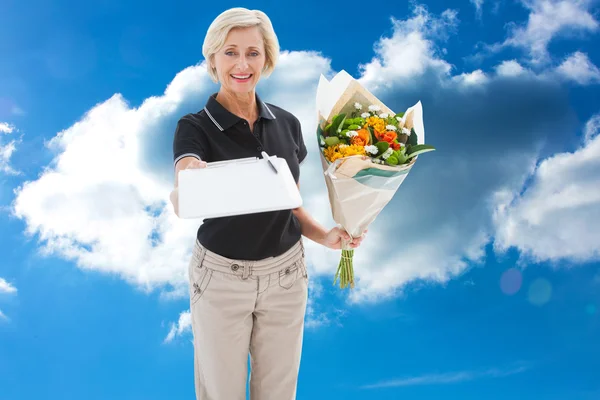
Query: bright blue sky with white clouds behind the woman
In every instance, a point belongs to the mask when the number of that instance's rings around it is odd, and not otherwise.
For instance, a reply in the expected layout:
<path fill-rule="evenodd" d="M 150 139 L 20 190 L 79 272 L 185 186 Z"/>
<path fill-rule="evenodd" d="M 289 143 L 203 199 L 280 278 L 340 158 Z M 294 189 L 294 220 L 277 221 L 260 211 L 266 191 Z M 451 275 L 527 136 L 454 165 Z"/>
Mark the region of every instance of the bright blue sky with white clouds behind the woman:
<path fill-rule="evenodd" d="M 2 2 L 0 398 L 193 398 L 186 267 L 166 203 L 201 46 L 238 3 Z M 357 252 L 310 245 L 299 399 L 600 397 L 597 1 L 247 2 L 284 53 L 259 93 L 301 120 L 320 74 L 420 100 L 417 163 Z M 152 242 L 154 238 L 155 242 Z"/>

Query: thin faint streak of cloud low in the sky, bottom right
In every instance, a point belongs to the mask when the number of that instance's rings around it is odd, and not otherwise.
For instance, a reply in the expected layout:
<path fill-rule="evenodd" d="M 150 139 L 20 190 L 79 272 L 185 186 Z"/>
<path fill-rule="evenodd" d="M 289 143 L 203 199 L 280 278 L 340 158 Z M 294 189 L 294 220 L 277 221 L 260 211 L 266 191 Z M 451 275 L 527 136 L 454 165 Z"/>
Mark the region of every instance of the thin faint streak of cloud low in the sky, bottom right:
<path fill-rule="evenodd" d="M 362 389 L 380 389 L 386 387 L 416 386 L 416 385 L 447 385 L 473 381 L 486 378 L 504 378 L 507 376 L 520 374 L 529 369 L 526 365 L 518 365 L 512 368 L 490 368 L 482 371 L 458 371 L 442 374 L 428 374 L 420 376 L 411 376 L 407 378 L 393 379 L 379 382 L 371 385 L 365 385 Z"/>

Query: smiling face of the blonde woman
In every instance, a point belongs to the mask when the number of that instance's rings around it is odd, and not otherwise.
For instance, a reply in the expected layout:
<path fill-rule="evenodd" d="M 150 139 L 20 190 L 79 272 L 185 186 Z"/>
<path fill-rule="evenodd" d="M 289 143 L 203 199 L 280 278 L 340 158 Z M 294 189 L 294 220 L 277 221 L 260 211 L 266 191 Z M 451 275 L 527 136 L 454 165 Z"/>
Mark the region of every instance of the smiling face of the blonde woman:
<path fill-rule="evenodd" d="M 213 62 L 223 89 L 239 94 L 252 92 L 266 62 L 259 28 L 232 29 Z"/>

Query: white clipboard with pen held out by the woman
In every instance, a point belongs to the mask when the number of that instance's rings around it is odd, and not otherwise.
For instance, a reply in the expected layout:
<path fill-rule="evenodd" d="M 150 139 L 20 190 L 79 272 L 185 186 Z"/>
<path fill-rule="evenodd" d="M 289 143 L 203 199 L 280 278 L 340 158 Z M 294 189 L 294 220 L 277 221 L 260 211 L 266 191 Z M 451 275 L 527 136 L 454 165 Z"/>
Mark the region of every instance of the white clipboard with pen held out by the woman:
<path fill-rule="evenodd" d="M 285 158 L 249 157 L 207 163 L 178 176 L 180 218 L 218 218 L 302 206 Z"/>

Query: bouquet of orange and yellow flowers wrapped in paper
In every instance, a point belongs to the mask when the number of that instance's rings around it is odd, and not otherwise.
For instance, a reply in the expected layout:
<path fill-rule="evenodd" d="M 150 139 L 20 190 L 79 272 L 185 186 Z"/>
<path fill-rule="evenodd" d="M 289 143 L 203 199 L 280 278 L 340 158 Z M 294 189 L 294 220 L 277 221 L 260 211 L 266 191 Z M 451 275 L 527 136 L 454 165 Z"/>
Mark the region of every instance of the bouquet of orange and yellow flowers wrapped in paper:
<path fill-rule="evenodd" d="M 395 113 L 345 71 L 317 88 L 317 140 L 334 221 L 364 233 L 390 202 L 425 144 L 421 102 Z M 342 243 L 334 278 L 354 287 L 354 250 Z"/>

